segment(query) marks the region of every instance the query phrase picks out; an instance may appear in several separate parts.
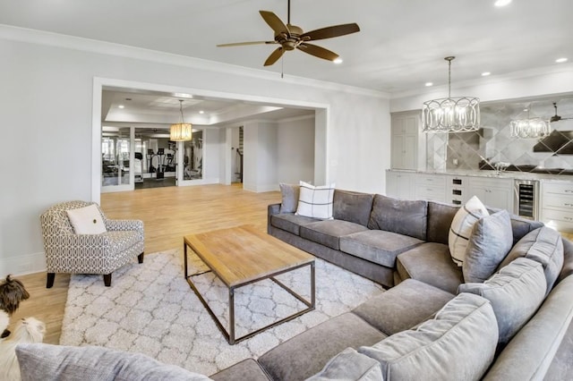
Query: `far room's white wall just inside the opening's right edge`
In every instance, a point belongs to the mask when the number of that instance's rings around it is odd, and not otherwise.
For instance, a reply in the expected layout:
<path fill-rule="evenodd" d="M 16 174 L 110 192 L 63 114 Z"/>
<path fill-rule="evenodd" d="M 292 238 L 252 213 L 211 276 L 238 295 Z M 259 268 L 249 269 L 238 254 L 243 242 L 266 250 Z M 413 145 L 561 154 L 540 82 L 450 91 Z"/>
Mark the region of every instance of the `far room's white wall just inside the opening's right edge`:
<path fill-rule="evenodd" d="M 277 140 L 278 182 L 314 182 L 314 116 L 279 121 Z"/>

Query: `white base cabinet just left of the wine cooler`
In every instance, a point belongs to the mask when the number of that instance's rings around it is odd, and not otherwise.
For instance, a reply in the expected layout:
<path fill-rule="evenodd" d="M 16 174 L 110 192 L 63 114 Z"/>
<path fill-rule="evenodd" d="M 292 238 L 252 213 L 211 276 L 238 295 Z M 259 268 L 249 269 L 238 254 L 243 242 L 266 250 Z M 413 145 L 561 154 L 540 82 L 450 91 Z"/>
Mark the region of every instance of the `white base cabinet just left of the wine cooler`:
<path fill-rule="evenodd" d="M 486 207 L 513 213 L 513 179 L 470 177 L 467 195 L 468 199 L 477 196 Z"/>

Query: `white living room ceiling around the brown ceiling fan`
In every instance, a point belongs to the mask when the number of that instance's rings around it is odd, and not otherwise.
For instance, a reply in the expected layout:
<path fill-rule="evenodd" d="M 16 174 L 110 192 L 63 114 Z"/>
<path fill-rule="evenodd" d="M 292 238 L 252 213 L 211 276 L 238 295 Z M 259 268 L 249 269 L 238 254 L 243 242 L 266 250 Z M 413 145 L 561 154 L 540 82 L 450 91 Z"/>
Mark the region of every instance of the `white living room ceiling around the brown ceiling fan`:
<path fill-rule="evenodd" d="M 573 62 L 573 1 L 292 0 L 291 23 L 305 31 L 356 22 L 355 34 L 317 41 L 344 63 L 286 52 L 262 63 L 276 46 L 216 47 L 272 40 L 259 10 L 286 21 L 287 0 L 0 0 L 0 23 L 93 38 L 176 55 L 328 80 L 389 93 Z"/>

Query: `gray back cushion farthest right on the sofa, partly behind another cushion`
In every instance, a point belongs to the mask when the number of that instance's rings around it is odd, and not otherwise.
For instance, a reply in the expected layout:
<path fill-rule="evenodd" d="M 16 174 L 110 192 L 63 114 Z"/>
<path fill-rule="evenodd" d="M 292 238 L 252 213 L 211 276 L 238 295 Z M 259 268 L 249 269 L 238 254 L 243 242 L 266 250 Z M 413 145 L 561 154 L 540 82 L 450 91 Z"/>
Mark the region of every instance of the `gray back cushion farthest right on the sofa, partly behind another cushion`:
<path fill-rule="evenodd" d="M 549 293 L 563 266 L 563 241 L 560 233 L 546 226 L 527 233 L 509 251 L 500 268 L 518 257 L 530 258 L 543 265 Z"/>

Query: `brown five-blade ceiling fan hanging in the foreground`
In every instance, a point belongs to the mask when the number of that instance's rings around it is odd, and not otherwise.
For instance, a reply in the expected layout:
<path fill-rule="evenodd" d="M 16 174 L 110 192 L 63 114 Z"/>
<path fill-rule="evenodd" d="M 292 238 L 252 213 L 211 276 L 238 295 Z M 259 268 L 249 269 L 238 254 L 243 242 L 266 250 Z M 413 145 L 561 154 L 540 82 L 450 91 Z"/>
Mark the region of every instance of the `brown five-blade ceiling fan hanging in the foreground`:
<path fill-rule="evenodd" d="M 269 27 L 275 32 L 275 39 L 273 41 L 251 41 L 251 42 L 235 42 L 232 44 L 220 44 L 218 47 L 240 47 L 244 45 L 258 45 L 258 44 L 278 44 L 280 47 L 275 49 L 265 61 L 265 66 L 269 66 L 278 61 L 286 50 L 298 49 L 306 54 L 314 55 L 325 60 L 334 61 L 338 55 L 331 52 L 329 49 L 319 47 L 317 45 L 309 44 L 309 41 L 317 39 L 334 38 L 344 36 L 346 34 L 355 33 L 360 31 L 358 24 L 341 24 L 333 25 L 319 30 L 311 30 L 304 32 L 300 27 L 290 23 L 290 0 L 288 0 L 288 13 L 286 24 L 281 21 L 275 13 L 269 11 L 259 11 L 262 19 L 269 24 Z"/>

